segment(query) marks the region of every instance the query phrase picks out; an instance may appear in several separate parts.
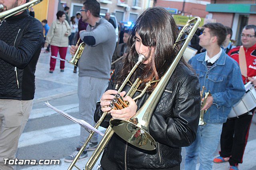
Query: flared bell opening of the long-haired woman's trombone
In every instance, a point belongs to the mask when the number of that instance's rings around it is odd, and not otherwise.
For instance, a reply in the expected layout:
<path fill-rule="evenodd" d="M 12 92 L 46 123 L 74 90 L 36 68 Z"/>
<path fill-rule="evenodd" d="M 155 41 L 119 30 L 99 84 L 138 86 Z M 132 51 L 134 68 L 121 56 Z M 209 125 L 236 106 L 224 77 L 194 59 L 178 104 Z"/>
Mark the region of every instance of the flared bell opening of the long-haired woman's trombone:
<path fill-rule="evenodd" d="M 110 127 L 118 136 L 122 136 L 122 139 L 138 148 L 144 150 L 156 149 L 156 141 L 147 132 L 146 127 L 143 127 L 138 121 L 112 119 Z"/>

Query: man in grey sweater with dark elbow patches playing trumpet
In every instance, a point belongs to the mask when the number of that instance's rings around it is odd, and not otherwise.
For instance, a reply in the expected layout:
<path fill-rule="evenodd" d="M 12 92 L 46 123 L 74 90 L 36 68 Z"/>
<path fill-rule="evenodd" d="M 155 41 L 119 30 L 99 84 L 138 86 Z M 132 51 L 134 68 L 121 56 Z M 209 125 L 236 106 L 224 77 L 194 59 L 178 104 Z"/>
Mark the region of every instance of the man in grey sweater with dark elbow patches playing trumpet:
<path fill-rule="evenodd" d="M 100 17 L 100 4 L 96 0 L 86 0 L 81 9 L 82 21 L 88 23 L 86 30 L 79 32 L 80 39 L 86 44 L 78 62 L 78 99 L 79 119 L 94 126 L 94 111 L 97 101 L 104 93 L 110 78 L 111 59 L 116 47 L 114 27 Z M 78 47 L 72 45 L 70 53 L 74 55 Z M 89 133 L 81 128 L 80 141 L 76 150 L 64 159 L 72 162 L 84 144 Z M 78 160 L 88 156 L 87 151 L 95 150 L 98 145 L 98 134 L 94 134 L 86 150 Z"/>

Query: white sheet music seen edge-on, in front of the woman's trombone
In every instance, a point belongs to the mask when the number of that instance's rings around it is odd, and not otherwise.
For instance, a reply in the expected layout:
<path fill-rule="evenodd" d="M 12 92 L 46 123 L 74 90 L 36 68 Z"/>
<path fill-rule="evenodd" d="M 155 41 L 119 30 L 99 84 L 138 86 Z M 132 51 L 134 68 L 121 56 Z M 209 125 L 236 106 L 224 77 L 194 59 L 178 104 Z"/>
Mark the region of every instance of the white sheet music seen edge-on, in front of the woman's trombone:
<path fill-rule="evenodd" d="M 82 119 L 76 119 L 74 117 L 72 117 L 71 115 L 68 115 L 68 113 L 65 113 L 64 111 L 61 111 L 59 109 L 57 109 L 56 107 L 53 107 L 52 105 L 50 105 L 50 103 L 45 102 L 44 105 L 46 105 L 47 107 L 50 107 L 52 110 L 60 113 L 61 115 L 63 115 L 64 117 L 66 117 L 67 119 L 73 121 L 74 123 L 77 123 L 78 125 L 80 125 L 81 127 L 83 127 L 85 130 L 87 130 L 89 133 L 92 131 L 100 134 L 101 136 L 104 136 L 104 133 L 100 132 L 100 130 L 94 128 L 92 125 L 90 125 L 89 123 L 87 123 L 86 121 L 82 120 Z"/>

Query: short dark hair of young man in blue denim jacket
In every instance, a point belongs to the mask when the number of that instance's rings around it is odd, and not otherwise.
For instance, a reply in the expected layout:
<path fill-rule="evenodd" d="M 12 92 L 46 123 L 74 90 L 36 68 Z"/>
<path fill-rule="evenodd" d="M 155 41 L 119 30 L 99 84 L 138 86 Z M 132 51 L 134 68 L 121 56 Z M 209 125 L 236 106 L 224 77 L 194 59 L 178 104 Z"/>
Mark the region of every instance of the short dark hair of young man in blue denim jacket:
<path fill-rule="evenodd" d="M 220 46 L 227 36 L 227 29 L 223 24 L 220 23 L 208 23 L 203 25 L 204 28 L 209 28 L 210 35 L 217 37 L 217 43 Z"/>

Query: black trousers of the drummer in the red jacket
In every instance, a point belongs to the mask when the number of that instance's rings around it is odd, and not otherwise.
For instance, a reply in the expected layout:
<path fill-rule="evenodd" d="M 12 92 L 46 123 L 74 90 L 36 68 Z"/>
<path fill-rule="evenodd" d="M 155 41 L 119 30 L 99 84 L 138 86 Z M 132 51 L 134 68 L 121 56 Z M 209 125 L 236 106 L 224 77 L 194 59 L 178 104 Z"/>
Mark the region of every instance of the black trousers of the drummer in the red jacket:
<path fill-rule="evenodd" d="M 243 162 L 252 116 L 245 115 L 237 119 L 228 119 L 223 124 L 220 137 L 220 156 L 230 157 L 229 164 L 231 166 L 237 166 L 238 163 Z"/>

